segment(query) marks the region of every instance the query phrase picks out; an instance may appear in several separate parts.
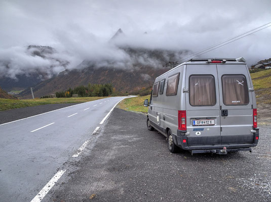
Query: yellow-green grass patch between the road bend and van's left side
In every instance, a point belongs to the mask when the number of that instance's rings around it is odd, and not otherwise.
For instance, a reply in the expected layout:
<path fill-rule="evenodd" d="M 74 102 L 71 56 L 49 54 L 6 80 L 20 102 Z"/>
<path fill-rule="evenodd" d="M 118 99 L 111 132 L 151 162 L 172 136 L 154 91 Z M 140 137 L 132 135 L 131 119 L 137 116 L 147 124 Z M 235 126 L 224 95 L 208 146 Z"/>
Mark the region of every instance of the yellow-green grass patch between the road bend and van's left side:
<path fill-rule="evenodd" d="M 149 100 L 149 97 L 150 95 L 126 98 L 122 100 L 118 107 L 126 111 L 147 113 L 148 108 L 144 107 L 143 103 L 145 99 Z"/>

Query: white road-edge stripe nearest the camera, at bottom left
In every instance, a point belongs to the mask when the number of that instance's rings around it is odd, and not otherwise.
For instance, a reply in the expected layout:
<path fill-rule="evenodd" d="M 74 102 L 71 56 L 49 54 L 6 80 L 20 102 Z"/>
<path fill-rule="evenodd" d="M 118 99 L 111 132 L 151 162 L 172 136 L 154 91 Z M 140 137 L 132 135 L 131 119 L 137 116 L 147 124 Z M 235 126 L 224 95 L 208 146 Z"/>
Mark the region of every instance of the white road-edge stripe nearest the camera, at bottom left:
<path fill-rule="evenodd" d="M 50 189 L 56 184 L 59 178 L 66 172 L 66 170 L 58 171 L 55 176 L 43 187 L 43 189 L 36 194 L 31 202 L 41 202 L 44 196 L 50 191 Z"/>

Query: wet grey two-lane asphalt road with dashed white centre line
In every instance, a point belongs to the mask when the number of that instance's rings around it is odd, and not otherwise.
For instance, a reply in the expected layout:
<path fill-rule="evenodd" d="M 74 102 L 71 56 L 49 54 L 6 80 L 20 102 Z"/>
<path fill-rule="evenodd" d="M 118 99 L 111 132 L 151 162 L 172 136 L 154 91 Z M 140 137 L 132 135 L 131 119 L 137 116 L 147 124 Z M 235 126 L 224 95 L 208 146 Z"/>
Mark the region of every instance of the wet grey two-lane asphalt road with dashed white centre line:
<path fill-rule="evenodd" d="M 31 201 L 55 174 L 56 182 L 65 162 L 80 159 L 93 131 L 123 98 L 94 100 L 0 125 L 0 201 Z"/>

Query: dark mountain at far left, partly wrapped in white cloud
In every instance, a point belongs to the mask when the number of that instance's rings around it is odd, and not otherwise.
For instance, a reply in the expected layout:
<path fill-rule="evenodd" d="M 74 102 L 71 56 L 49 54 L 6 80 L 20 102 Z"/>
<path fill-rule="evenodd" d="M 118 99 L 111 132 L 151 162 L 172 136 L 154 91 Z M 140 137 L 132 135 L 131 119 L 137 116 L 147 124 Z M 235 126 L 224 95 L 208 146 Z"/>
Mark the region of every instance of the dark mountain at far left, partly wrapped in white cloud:
<path fill-rule="evenodd" d="M 68 61 L 57 58 L 55 54 L 57 54 L 57 51 L 51 46 L 28 45 L 23 49 L 23 57 L 27 57 L 27 60 L 33 60 L 34 64 L 37 60 L 43 61 L 44 63 L 50 61 L 50 63 L 65 69 L 68 65 Z M 54 65 L 49 67 L 36 65 L 36 67 L 33 66 L 31 68 L 25 65 L 23 69 L 18 69 L 18 66 L 23 64 L 23 61 L 19 61 L 19 59 L 15 61 L 17 61 L 15 65 L 14 59 L 0 61 L 2 71 L 4 72 L 0 75 L 0 86 L 6 91 L 23 90 L 55 76 Z M 9 75 L 9 73 L 15 71 L 19 72 L 16 76 Z"/>

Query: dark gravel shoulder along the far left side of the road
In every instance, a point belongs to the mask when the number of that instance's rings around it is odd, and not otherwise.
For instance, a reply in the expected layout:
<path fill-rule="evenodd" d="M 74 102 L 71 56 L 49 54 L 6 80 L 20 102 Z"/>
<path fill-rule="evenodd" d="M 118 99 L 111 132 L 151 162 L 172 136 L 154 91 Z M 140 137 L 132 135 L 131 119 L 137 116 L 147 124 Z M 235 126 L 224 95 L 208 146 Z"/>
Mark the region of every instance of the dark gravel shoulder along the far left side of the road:
<path fill-rule="evenodd" d="M 31 117 L 34 115 L 50 112 L 53 110 L 58 110 L 64 107 L 77 105 L 77 104 L 79 103 L 49 104 L 49 105 L 39 105 L 39 106 L 25 107 L 25 108 L 19 108 L 19 109 L 14 109 L 14 110 L 0 111 L 0 124 L 16 121 L 19 119 Z"/>

